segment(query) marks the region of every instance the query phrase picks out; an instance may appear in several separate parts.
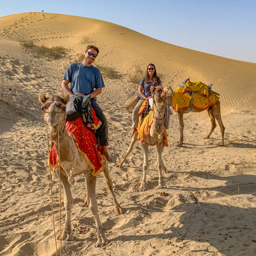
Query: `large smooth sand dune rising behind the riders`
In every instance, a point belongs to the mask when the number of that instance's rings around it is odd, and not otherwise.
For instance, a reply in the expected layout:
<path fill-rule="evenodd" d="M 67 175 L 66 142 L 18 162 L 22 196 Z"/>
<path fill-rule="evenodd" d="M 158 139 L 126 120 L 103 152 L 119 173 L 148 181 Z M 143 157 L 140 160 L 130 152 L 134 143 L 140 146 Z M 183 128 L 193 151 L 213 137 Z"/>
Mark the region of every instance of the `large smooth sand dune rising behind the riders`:
<path fill-rule="evenodd" d="M 164 85 L 176 88 L 190 77 L 191 81 L 214 84 L 223 108 L 256 107 L 256 63 L 185 49 L 120 25 L 64 14 L 30 12 L 1 17 L 0 35 L 16 42 L 34 40 L 38 45 L 63 46 L 73 56 L 93 43 L 100 49 L 98 63 L 121 73 L 144 72 L 146 63 L 153 62 L 164 76 Z"/>

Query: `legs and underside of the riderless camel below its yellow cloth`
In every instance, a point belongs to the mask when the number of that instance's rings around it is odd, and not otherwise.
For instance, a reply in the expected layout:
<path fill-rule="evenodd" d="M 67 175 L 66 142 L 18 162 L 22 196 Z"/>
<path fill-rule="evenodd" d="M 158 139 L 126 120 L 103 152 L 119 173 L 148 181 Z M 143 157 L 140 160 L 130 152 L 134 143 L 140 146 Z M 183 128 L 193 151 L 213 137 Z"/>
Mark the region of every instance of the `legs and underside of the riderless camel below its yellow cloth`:
<path fill-rule="evenodd" d="M 209 90 L 211 90 L 211 85 L 210 86 L 208 85 Z M 179 93 L 179 92 L 176 92 L 176 90 L 175 90 L 174 93 L 173 93 L 173 97 L 175 96 L 176 93 Z M 213 92 L 213 93 L 216 94 L 216 95 L 219 95 L 218 93 L 215 93 L 215 92 Z M 183 97 L 186 97 L 186 96 L 184 95 Z M 204 96 L 201 96 L 201 97 L 204 97 Z M 211 96 L 209 96 L 209 97 L 211 97 Z M 222 123 L 222 120 L 221 120 L 220 102 L 219 102 L 219 100 L 214 105 L 212 105 L 209 108 L 206 108 L 204 110 L 207 110 L 208 115 L 209 115 L 210 120 L 211 120 L 211 130 L 210 130 L 209 134 L 206 137 L 204 137 L 204 138 L 208 139 L 210 137 L 210 135 L 212 134 L 212 132 L 214 131 L 214 129 L 217 126 L 216 125 L 216 121 L 215 121 L 215 119 L 217 119 L 217 121 L 219 123 L 219 127 L 220 127 L 221 136 L 222 136 L 222 140 L 220 142 L 220 146 L 224 146 L 224 131 L 225 131 L 225 127 L 224 127 L 224 125 Z M 184 129 L 183 114 L 184 113 L 189 113 L 190 111 L 192 111 L 192 112 L 202 112 L 204 110 L 197 109 L 194 106 L 192 106 L 190 108 L 188 107 L 186 109 L 175 110 L 178 113 L 178 117 L 179 117 L 179 130 L 180 130 L 180 139 L 178 141 L 178 145 L 177 146 L 179 146 L 179 147 L 183 146 L 183 139 L 184 139 L 184 135 L 183 135 L 183 129 Z"/>

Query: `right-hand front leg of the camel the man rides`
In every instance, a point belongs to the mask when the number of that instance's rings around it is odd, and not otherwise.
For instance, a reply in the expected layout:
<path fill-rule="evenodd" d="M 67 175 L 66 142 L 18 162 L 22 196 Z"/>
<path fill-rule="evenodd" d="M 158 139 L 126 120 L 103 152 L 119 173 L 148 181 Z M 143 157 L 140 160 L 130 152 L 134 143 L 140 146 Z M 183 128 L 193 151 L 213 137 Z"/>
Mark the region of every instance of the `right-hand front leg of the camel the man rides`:
<path fill-rule="evenodd" d="M 93 176 L 91 173 L 85 173 L 87 195 L 88 195 L 88 206 L 95 219 L 96 228 L 97 228 L 97 237 L 96 247 L 103 246 L 109 243 L 109 240 L 105 236 L 103 231 L 99 216 L 98 216 L 98 203 L 96 199 L 96 176 Z"/>

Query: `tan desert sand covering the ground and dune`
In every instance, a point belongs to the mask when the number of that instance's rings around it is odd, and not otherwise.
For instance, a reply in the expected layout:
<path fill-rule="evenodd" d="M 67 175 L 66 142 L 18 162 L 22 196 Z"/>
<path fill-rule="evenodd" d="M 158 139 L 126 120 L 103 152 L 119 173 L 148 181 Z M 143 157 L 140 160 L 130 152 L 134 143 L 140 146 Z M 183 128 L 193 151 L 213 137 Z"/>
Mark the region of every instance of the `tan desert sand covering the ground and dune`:
<path fill-rule="evenodd" d="M 54 59 L 36 54 L 20 43 L 29 40 L 37 46 L 64 47 L 66 55 Z M 110 176 L 125 213 L 113 212 L 104 175 L 99 174 L 99 216 L 110 244 L 96 248 L 94 219 L 88 207 L 82 207 L 85 179 L 75 177 L 71 182 L 75 240 L 62 241 L 62 255 L 255 255 L 256 63 L 184 49 L 100 20 L 44 12 L 0 17 L 0 255 L 56 255 L 47 134 L 37 99 L 38 93 L 64 95 L 65 70 L 88 44 L 100 50 L 95 64 L 114 68 L 117 74 L 113 79 L 103 73 L 105 88 L 98 104 L 108 119 L 109 152 L 114 160 Z M 177 147 L 179 124 L 173 112 L 169 146 L 163 151 L 169 170 L 164 174 L 167 187 L 156 189 L 156 148 L 150 147 L 148 189 L 138 192 L 143 164 L 139 142 L 123 168 L 116 163 L 131 140 L 132 117 L 124 102 L 136 95 L 149 62 L 156 65 L 162 84 L 173 89 L 188 77 L 214 84 L 213 90 L 220 94 L 225 146 L 219 146 L 218 125 L 204 140 L 210 129 L 204 111 L 185 115 L 184 145 Z M 54 173 L 52 186 L 58 234 L 59 183 Z M 60 255 L 59 240 L 57 246 Z"/>

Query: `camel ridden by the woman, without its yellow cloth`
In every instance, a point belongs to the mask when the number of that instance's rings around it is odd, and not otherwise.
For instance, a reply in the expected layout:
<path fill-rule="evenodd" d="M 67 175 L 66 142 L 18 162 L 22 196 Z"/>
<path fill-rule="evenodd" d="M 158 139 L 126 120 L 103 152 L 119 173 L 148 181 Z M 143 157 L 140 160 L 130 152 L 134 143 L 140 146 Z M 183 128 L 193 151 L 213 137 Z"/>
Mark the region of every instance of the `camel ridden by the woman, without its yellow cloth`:
<path fill-rule="evenodd" d="M 164 112 L 165 112 L 164 101 L 168 96 L 171 96 L 173 94 L 173 91 L 170 86 L 165 86 L 165 87 L 151 86 L 150 90 L 151 90 L 152 99 L 153 99 L 154 117 L 153 117 L 153 123 L 149 130 L 149 134 L 147 134 L 146 138 L 141 143 L 141 147 L 144 155 L 144 162 L 143 162 L 143 178 L 138 188 L 139 191 L 146 190 L 146 174 L 148 170 L 148 146 L 155 146 L 155 145 L 157 146 L 158 157 L 157 157 L 156 166 L 158 168 L 158 175 L 159 175 L 158 188 L 165 187 L 162 172 L 167 171 L 162 161 L 162 151 L 164 149 L 164 135 L 163 135 L 163 131 L 164 131 L 163 121 L 164 121 Z M 127 149 L 126 155 L 124 156 L 122 161 L 116 165 L 117 167 L 122 168 L 124 160 L 131 153 L 133 146 L 137 140 L 137 137 L 138 137 L 138 133 L 134 134 L 131 144 Z"/>

